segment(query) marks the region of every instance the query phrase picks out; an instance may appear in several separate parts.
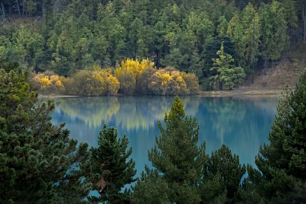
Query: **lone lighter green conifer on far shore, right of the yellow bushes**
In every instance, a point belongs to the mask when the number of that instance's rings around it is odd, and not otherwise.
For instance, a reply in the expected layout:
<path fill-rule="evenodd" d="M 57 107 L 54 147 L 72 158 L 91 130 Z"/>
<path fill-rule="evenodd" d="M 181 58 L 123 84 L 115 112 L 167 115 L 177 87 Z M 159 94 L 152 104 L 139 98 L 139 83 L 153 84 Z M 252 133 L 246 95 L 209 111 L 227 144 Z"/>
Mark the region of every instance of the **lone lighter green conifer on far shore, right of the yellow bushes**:
<path fill-rule="evenodd" d="M 215 85 L 219 83 L 219 90 L 223 89 L 223 85 L 228 86 L 228 88 L 232 90 L 233 87 L 243 82 L 245 78 L 244 70 L 241 67 L 233 65 L 233 57 L 224 53 L 223 42 L 221 43 L 221 48 L 217 52 L 217 55 L 219 58 L 213 59 L 214 67 L 210 69 L 214 73 L 210 78 L 212 84 Z"/>

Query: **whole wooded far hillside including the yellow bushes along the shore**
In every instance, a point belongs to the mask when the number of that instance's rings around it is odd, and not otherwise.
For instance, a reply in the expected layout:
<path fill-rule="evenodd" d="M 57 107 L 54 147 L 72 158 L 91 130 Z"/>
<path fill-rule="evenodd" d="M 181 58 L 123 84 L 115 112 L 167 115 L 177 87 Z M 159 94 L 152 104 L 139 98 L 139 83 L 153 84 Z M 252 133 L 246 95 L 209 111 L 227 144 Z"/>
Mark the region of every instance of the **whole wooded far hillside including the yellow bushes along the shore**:
<path fill-rule="evenodd" d="M 44 92 L 197 93 L 190 81 L 232 89 L 305 41 L 305 16 L 304 0 L 3 0 L 0 63 L 43 72 L 32 84 Z M 149 62 L 124 68 L 130 59 Z"/>

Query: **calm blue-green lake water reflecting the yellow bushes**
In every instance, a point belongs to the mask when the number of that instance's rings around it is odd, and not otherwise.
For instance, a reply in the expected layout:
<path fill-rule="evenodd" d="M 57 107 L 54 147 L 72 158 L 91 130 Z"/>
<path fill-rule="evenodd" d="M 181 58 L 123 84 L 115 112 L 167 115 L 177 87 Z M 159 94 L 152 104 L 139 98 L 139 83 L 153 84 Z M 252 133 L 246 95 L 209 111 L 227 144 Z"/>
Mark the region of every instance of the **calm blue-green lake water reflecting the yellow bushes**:
<path fill-rule="evenodd" d="M 126 133 L 133 147 L 137 176 L 148 161 L 148 149 L 159 136 L 158 121 L 170 110 L 174 96 L 101 96 L 54 98 L 56 109 L 52 122 L 66 122 L 70 137 L 97 146 L 97 136 L 104 123 L 115 126 L 118 135 Z M 206 141 L 211 154 L 228 145 L 239 155 L 240 162 L 254 166 L 254 157 L 261 144 L 268 142 L 270 125 L 274 121 L 278 97 L 182 96 L 186 115 L 197 118 L 200 125 L 198 144 Z M 44 99 L 40 99 L 39 103 Z"/>

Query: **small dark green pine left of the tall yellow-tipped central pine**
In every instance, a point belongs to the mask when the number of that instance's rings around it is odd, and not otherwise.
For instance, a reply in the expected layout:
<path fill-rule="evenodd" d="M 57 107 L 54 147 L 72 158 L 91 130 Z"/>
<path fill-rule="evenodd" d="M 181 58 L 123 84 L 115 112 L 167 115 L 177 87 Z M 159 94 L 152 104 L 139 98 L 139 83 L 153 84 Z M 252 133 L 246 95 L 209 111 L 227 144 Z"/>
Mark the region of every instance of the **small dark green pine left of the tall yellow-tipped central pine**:
<path fill-rule="evenodd" d="M 121 189 L 136 181 L 133 179 L 135 162 L 126 161 L 132 154 L 132 147 L 126 150 L 129 139 L 125 135 L 118 139 L 117 135 L 114 127 L 107 128 L 104 124 L 98 136 L 99 146 L 90 149 L 91 158 L 83 167 L 93 190 L 100 194 L 100 197 L 88 197 L 91 202 L 129 203 L 131 191 L 121 192 Z"/>

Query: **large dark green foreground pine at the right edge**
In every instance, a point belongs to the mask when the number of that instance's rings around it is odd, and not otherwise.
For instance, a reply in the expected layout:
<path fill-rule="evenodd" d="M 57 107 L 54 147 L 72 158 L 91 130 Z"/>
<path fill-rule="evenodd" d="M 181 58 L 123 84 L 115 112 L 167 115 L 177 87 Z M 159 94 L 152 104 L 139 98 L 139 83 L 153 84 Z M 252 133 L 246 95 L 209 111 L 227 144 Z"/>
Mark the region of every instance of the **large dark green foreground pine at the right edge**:
<path fill-rule="evenodd" d="M 245 199 L 306 203 L 306 70 L 293 92 L 286 87 L 271 129 L 256 157 L 260 171 L 248 166 Z"/>

